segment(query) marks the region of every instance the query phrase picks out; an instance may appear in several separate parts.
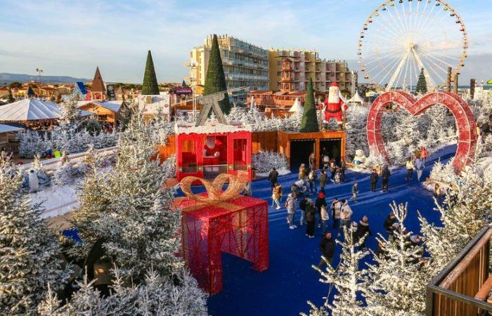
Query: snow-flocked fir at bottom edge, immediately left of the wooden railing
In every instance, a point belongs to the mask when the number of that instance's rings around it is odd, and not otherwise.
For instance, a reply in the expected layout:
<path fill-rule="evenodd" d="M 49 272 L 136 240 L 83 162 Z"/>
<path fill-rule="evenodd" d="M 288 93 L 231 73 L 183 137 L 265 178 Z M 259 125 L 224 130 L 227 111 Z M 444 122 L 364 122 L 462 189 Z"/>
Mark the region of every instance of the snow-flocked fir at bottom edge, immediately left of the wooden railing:
<path fill-rule="evenodd" d="M 404 220 L 406 204 L 390 205 L 399 223 L 392 241 L 379 235 L 382 254 L 374 254 L 375 264 L 368 264 L 368 289 L 365 292 L 368 315 L 421 316 L 425 311 L 425 285 L 432 277 L 420 263 L 422 246 L 410 244 Z"/>

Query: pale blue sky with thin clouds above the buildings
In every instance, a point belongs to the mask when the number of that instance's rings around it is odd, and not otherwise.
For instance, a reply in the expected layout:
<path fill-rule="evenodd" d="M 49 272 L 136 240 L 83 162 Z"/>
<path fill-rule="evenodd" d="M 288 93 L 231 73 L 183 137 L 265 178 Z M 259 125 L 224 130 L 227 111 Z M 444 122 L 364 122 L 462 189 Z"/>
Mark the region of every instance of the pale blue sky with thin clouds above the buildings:
<path fill-rule="evenodd" d="M 0 72 L 141 82 L 148 49 L 158 81 L 181 81 L 190 48 L 231 34 L 264 48 L 316 48 L 357 67 L 361 25 L 382 0 L 44 1 L 1 0 Z M 492 79 L 492 1 L 449 0 L 462 15 L 470 52 L 465 83 Z M 432 30 L 429 30 L 432 32 Z"/>

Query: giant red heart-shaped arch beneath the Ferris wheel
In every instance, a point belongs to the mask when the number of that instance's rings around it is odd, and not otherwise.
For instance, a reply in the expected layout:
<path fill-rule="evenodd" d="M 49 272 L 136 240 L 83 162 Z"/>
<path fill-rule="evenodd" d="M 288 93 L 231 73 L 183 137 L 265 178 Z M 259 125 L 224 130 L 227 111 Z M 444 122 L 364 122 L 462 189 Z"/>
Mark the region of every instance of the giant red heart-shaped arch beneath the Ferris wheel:
<path fill-rule="evenodd" d="M 422 114 L 434 105 L 445 105 L 453 113 L 458 126 L 458 149 L 453 162 L 456 172 L 472 162 L 477 147 L 477 124 L 465 100 L 451 92 L 432 92 L 420 100 L 403 91 L 382 93 L 370 107 L 367 121 L 368 144 L 373 154 L 380 154 L 389 162 L 381 136 L 382 114 L 389 103 L 400 105 L 412 115 Z"/>

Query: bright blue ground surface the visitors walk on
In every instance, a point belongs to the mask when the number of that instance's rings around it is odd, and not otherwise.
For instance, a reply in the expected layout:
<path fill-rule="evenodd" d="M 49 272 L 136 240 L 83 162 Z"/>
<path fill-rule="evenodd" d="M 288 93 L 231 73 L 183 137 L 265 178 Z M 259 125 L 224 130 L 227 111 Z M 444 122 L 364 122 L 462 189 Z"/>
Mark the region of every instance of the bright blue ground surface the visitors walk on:
<path fill-rule="evenodd" d="M 455 154 L 455 146 L 445 147 L 436 152 L 427 163 L 424 176 L 429 176 L 432 164 L 438 158 L 441 162 L 448 161 Z M 394 200 L 397 203 L 408 202 L 408 218 L 406 226 L 413 232 L 419 232 L 420 225 L 417 219 L 417 210 L 430 222 L 439 223 L 439 214 L 433 211 L 432 194 L 424 190 L 417 183 L 414 173 L 413 181 L 406 181 L 406 170 L 392 171 L 389 180 L 389 193 L 370 192 L 369 175 L 365 173 L 348 172 L 347 180 L 342 185 L 330 183 L 325 187 L 327 202 L 330 204 L 333 197 L 348 199 L 351 196 L 351 185 L 358 182 L 360 194 L 358 203 L 351 202 L 354 211 L 352 220 L 360 220 L 363 215 L 369 217 L 370 230 L 373 237 L 368 237 L 366 245 L 370 249 L 377 248 L 374 235 L 384 232 L 382 223 L 389 214 L 389 204 Z M 290 192 L 290 185 L 297 180 L 297 173 L 279 178 L 284 187 L 284 198 Z M 380 190 L 381 180 L 378 183 Z M 252 183 L 254 197 L 266 199 L 271 206 L 271 190 L 268 181 L 257 180 Z M 314 198 L 314 195 L 311 196 Z M 251 269 L 251 264 L 240 258 L 228 254 L 223 255 L 224 291 L 208 299 L 209 314 L 213 316 L 274 316 L 299 315 L 299 312 L 308 312 L 306 301 L 313 301 L 316 305 L 323 303 L 323 296 L 328 294 L 328 284 L 319 282 L 320 275 L 311 268 L 318 264 L 321 252 L 318 243 L 321 239 L 321 229 L 316 228 L 316 238 L 308 239 L 305 236 L 306 226 L 299 226 L 299 212 L 296 225 L 298 228 L 289 230 L 285 217 L 286 211 L 269 208 L 269 254 L 270 266 L 264 272 Z M 330 218 L 330 227 L 332 219 Z M 335 235 L 337 232 L 335 232 Z M 340 246 L 336 247 L 333 264 L 339 262 Z"/>

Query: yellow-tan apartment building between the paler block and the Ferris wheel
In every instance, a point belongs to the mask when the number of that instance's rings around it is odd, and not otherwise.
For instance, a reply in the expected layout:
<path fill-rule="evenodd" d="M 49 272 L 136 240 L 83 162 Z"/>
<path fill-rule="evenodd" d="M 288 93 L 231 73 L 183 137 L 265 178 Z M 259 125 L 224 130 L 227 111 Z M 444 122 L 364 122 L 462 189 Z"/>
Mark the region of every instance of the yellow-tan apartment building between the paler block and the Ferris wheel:
<path fill-rule="evenodd" d="M 357 74 L 353 74 L 346 60 L 325 60 L 318 57 L 316 51 L 293 51 L 271 49 L 268 51 L 269 90 L 283 90 L 283 62 L 292 62 L 292 72 L 289 74 L 291 91 L 306 91 L 309 78 L 313 79 L 314 90 L 328 93 L 330 84 L 336 82 L 340 90 L 354 93 L 357 86 Z M 354 78 L 352 78 L 354 76 Z"/>

